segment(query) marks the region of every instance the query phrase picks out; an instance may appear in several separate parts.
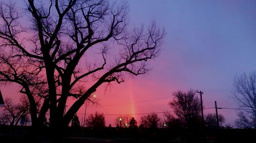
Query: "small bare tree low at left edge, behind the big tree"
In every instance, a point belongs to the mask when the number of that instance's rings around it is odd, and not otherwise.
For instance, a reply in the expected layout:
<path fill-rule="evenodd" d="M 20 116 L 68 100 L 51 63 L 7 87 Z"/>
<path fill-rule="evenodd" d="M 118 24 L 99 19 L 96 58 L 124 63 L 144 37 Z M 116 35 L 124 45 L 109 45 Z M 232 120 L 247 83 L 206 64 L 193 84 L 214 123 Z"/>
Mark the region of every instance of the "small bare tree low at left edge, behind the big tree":
<path fill-rule="evenodd" d="M 0 117 L 0 124 L 17 126 L 19 121 L 22 120 L 25 124 L 29 122 L 27 115 L 30 114 L 29 102 L 26 97 L 20 99 L 20 103 L 13 104 L 11 98 L 4 100 L 5 104 L 3 107 L 2 116 Z"/>

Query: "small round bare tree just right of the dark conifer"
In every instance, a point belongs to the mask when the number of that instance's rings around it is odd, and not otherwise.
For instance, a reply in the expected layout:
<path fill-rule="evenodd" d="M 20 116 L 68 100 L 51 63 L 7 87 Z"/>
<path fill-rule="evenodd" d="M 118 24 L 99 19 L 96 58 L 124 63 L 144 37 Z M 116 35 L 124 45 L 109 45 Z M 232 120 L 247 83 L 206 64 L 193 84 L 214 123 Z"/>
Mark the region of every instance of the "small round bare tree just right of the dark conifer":
<path fill-rule="evenodd" d="M 148 115 L 144 115 L 141 117 L 141 124 L 144 125 L 144 127 L 146 128 L 152 128 L 152 129 L 156 129 L 159 126 L 160 123 L 160 118 L 158 117 L 158 115 L 156 113 L 152 113 L 152 114 L 148 114 Z"/>

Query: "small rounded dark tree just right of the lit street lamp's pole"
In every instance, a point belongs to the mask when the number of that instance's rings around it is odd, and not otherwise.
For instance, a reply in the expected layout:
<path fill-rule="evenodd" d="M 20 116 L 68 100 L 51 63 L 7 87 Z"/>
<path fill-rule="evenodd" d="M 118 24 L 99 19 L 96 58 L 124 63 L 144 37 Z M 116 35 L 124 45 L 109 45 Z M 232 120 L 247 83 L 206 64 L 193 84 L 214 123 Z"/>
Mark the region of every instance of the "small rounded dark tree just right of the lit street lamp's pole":
<path fill-rule="evenodd" d="M 86 125 L 88 127 L 93 127 L 93 128 L 103 128 L 105 127 L 105 117 L 103 115 L 103 113 L 99 114 L 99 113 L 95 113 L 95 115 L 90 115 L 87 119 L 86 119 Z"/>

